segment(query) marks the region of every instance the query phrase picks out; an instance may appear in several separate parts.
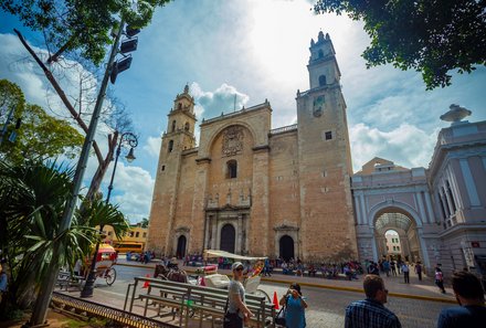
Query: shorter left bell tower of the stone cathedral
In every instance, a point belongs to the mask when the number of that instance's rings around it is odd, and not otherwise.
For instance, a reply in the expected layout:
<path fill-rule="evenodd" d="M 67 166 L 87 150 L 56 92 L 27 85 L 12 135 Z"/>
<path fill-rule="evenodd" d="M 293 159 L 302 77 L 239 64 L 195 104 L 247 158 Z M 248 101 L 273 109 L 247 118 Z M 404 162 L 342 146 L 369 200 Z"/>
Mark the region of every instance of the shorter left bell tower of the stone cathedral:
<path fill-rule="evenodd" d="M 196 147 L 196 121 L 194 98 L 186 85 L 183 93 L 176 96 L 168 114 L 150 210 L 148 246 L 162 254 L 173 251 L 170 241 L 178 205 L 182 152 Z"/>

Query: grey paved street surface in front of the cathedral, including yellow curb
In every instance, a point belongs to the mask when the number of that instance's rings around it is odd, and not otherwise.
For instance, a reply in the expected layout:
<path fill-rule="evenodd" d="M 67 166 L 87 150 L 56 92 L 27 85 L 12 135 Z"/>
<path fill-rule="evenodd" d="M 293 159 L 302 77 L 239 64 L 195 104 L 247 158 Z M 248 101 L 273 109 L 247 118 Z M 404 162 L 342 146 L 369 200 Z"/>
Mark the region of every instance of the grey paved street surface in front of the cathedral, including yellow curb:
<path fill-rule="evenodd" d="M 134 276 L 152 275 L 156 263 L 140 264 L 120 258 L 117 264 L 119 266 L 117 282 L 113 286 L 107 286 L 103 281 L 96 283 L 94 296 L 87 300 L 123 309 L 128 283 L 133 282 Z M 194 267 L 183 268 L 189 272 L 194 269 Z M 220 272 L 230 273 L 230 271 Z M 403 328 L 435 328 L 441 309 L 452 306 L 447 303 L 455 303 L 451 292 L 448 290 L 446 295 L 440 294 L 431 278 L 425 278 L 420 283 L 412 275 L 410 285 L 403 284 L 402 279 L 402 276 L 384 277 L 387 288 L 392 290 L 387 307 L 399 317 Z M 353 300 L 364 298 L 361 286 L 362 279 L 348 282 L 275 274 L 272 277 L 264 278 L 260 288 L 271 297 L 273 297 L 273 293 L 277 293 L 279 297 L 287 290 L 288 284 L 292 282 L 297 282 L 303 286 L 304 296 L 306 296 L 309 304 L 309 308 L 306 310 L 306 321 L 309 328 L 344 327 L 347 305 Z M 137 294 L 146 293 L 145 290 L 141 286 L 138 286 Z M 76 288 L 63 290 L 62 293 L 73 297 L 80 296 L 80 290 Z M 142 315 L 142 303 L 136 300 L 134 313 Z M 149 310 L 147 316 L 156 316 L 156 313 Z M 179 325 L 178 317 L 176 320 L 171 320 L 171 317 L 162 320 L 176 327 Z M 197 325 L 194 326 L 193 322 L 189 327 L 197 327 Z"/>

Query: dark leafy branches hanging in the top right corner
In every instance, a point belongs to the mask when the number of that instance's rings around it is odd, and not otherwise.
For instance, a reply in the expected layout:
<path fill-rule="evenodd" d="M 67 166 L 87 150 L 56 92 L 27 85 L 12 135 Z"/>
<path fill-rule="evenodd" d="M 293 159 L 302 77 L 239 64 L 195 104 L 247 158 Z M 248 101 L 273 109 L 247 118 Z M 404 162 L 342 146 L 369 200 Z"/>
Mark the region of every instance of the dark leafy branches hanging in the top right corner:
<path fill-rule="evenodd" d="M 486 1 L 318 0 L 314 10 L 363 20 L 367 67 L 416 70 L 427 89 L 451 85 L 451 71 L 486 65 Z"/>

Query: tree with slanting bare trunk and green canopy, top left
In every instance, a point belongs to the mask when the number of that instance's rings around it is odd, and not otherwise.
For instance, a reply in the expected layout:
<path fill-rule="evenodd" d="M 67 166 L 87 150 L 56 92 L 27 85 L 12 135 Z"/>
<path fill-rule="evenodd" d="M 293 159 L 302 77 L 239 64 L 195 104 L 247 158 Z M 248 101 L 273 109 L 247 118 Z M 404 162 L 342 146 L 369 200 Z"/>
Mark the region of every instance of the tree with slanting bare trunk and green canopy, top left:
<path fill-rule="evenodd" d="M 6 12 L 17 15 L 20 21 L 33 31 L 42 32 L 49 55 L 45 61 L 27 43 L 23 35 L 17 31 L 20 41 L 44 72 L 61 100 L 80 125 L 87 133 L 87 125 L 67 98 L 64 89 L 53 74 L 54 64 L 63 57 L 85 61 L 85 66 L 98 66 L 106 56 L 106 51 L 113 43 L 113 31 L 117 30 L 122 19 L 131 29 L 146 27 L 157 7 L 169 0 L 8 0 L 0 3 Z M 114 156 L 117 138 L 123 131 L 115 130 L 108 135 L 108 151 L 103 157 L 96 141 L 93 148 L 98 159 L 98 168 L 92 179 L 87 197 L 92 198 L 99 189 L 101 182 L 108 170 Z"/>

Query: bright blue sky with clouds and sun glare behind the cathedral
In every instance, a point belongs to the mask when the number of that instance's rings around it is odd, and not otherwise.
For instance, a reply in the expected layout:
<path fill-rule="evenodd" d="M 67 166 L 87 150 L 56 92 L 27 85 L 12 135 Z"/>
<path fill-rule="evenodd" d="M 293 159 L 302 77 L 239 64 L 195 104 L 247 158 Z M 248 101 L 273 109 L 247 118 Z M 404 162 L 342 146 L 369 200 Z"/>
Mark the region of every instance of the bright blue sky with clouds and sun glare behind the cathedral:
<path fill-rule="evenodd" d="M 138 35 L 131 67 L 119 74 L 109 91 L 130 115 L 139 141 L 137 159 L 118 163 L 112 194 L 131 222 L 149 215 L 160 137 L 184 85 L 189 84 L 196 99 L 199 123 L 233 112 L 236 95 L 237 109 L 268 99 L 273 128 L 295 124 L 295 95 L 297 89 L 308 89 L 308 47 L 319 31 L 329 33 L 336 50 L 355 171 L 376 156 L 408 168 L 427 167 L 437 133 L 448 126 L 439 116 L 451 104 L 472 110 L 469 121 L 486 119 L 485 67 L 453 74 L 450 87 L 425 91 L 418 72 L 391 65 L 366 68 L 360 55 L 370 40 L 362 22 L 346 15 L 316 15 L 310 8 L 309 0 L 176 0 L 156 10 L 151 24 Z M 42 72 L 27 60 L 14 28 L 39 53 L 45 53 L 39 34 L 0 12 L 0 78 L 19 84 L 29 102 L 68 117 Z M 96 80 L 85 67 L 70 64 L 76 68 L 59 68 L 57 76 L 74 99 L 78 76 L 87 84 L 96 85 Z M 83 95 L 94 96 L 94 92 Z M 96 137 L 104 152 L 106 131 L 101 126 Z M 91 158 L 85 184 L 95 170 L 96 159 Z M 104 193 L 110 174 L 112 169 L 102 186 Z"/>

